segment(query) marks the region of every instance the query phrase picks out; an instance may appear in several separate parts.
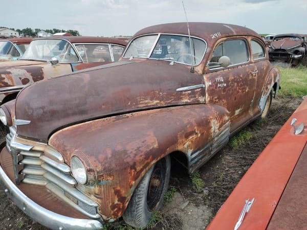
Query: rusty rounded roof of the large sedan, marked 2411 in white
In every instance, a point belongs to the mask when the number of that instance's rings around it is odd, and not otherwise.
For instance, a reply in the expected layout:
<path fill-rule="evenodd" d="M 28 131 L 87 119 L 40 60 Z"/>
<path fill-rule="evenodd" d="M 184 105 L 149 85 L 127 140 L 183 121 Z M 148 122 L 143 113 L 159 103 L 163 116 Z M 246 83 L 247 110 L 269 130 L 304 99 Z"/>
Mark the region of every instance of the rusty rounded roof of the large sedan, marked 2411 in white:
<path fill-rule="evenodd" d="M 255 31 L 243 26 L 224 23 L 189 23 L 190 35 L 203 38 L 205 40 L 216 40 L 220 37 L 232 35 L 252 35 L 261 39 Z M 150 26 L 138 31 L 134 36 L 152 33 L 188 34 L 187 23 L 168 23 Z M 217 34 L 217 36 L 215 36 Z M 220 36 L 218 36 L 220 34 Z"/>

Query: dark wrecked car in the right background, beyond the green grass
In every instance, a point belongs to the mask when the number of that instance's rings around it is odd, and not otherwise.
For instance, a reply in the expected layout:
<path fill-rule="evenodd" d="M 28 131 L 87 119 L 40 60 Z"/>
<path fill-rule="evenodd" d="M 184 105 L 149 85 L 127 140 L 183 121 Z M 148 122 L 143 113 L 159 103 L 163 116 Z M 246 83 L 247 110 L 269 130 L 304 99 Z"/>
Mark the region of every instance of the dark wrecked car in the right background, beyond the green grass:
<path fill-rule="evenodd" d="M 281 66 L 307 66 L 307 34 L 278 34 L 269 46 L 269 58 Z"/>

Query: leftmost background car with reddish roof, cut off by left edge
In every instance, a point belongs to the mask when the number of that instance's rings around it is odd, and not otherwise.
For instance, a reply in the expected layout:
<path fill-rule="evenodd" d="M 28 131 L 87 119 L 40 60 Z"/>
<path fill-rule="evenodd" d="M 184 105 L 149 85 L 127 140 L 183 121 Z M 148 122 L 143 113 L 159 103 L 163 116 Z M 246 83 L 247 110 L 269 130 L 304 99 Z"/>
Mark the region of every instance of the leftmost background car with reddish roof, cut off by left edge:
<path fill-rule="evenodd" d="M 0 61 L 17 60 L 25 53 L 33 37 L 14 37 L 0 40 Z"/>

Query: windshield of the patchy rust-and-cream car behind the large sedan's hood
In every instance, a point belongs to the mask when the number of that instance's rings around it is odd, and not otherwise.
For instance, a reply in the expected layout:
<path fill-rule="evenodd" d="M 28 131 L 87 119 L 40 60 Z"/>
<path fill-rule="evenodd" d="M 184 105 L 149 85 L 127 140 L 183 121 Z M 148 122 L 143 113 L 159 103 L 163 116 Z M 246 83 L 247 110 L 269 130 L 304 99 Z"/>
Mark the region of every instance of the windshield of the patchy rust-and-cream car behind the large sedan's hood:
<path fill-rule="evenodd" d="M 56 57 L 59 62 L 77 62 L 79 60 L 74 48 L 66 40 L 39 39 L 33 40 L 22 59 L 50 61 Z"/>

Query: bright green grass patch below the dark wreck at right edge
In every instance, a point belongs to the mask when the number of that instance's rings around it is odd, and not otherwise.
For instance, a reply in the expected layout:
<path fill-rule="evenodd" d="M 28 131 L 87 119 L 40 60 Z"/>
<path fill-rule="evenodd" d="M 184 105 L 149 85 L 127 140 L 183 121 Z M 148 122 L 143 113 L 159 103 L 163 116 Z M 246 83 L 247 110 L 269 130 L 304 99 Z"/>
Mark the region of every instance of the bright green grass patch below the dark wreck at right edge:
<path fill-rule="evenodd" d="M 281 74 L 280 97 L 303 97 L 307 95 L 307 67 L 297 68 L 278 67 Z"/>

